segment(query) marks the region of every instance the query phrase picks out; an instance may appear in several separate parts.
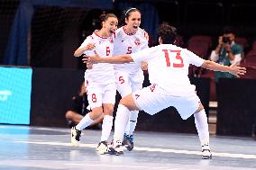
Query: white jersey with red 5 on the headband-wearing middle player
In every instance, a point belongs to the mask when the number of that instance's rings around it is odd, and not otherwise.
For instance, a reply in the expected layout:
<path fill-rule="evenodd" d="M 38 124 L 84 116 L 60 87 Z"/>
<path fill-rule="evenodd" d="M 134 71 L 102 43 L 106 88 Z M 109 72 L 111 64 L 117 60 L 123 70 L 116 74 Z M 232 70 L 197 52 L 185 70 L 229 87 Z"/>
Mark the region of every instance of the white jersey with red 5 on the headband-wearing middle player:
<path fill-rule="evenodd" d="M 133 34 L 127 33 L 125 26 L 117 29 L 115 31 L 114 40 L 114 56 L 122 54 L 132 54 L 142 49 L 148 48 L 148 40 L 146 38 L 147 32 L 141 28 Z M 114 65 L 115 70 L 127 70 L 129 72 L 137 72 L 141 69 L 141 63 L 125 63 Z"/>

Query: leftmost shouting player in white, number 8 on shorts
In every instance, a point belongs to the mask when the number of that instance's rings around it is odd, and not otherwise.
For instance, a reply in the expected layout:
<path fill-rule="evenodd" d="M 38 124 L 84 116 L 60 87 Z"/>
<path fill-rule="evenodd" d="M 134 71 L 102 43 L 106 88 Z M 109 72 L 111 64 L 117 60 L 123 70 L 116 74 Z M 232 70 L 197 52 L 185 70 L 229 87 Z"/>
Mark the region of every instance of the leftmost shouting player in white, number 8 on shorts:
<path fill-rule="evenodd" d="M 88 36 L 82 45 L 75 51 L 74 56 L 79 57 L 82 54 L 92 55 L 95 49 L 101 56 L 112 56 L 114 49 L 114 31 L 117 29 L 118 20 L 113 13 L 107 13 L 101 16 L 102 29 L 94 31 Z M 87 82 L 87 98 L 92 109 L 76 127 L 71 129 L 71 143 L 74 146 L 79 145 L 81 130 L 89 126 L 94 120 L 98 119 L 104 112 L 102 124 L 102 136 L 98 147 L 100 154 L 108 152 L 107 139 L 113 126 L 113 111 L 115 103 L 115 76 L 114 67 L 111 64 L 99 63 L 87 69 L 85 73 L 85 82 Z"/>

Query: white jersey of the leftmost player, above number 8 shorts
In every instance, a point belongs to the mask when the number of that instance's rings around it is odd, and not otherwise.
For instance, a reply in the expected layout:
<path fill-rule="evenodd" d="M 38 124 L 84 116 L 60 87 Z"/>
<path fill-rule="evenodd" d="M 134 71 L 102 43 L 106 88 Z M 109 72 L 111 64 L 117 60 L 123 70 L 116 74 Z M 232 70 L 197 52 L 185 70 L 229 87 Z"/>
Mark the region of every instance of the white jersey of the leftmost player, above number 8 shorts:
<path fill-rule="evenodd" d="M 93 50 L 87 50 L 84 54 L 93 56 L 95 55 L 94 50 L 96 50 L 96 53 L 100 57 L 110 57 L 113 56 L 114 37 L 114 34 L 111 37 L 101 37 L 97 34 L 97 31 L 94 31 L 92 35 L 87 37 L 79 48 L 86 47 L 88 43 L 95 43 L 96 48 Z M 87 80 L 100 85 L 114 83 L 114 67 L 112 64 L 108 63 L 93 64 L 92 69 L 87 69 L 85 77 Z"/>

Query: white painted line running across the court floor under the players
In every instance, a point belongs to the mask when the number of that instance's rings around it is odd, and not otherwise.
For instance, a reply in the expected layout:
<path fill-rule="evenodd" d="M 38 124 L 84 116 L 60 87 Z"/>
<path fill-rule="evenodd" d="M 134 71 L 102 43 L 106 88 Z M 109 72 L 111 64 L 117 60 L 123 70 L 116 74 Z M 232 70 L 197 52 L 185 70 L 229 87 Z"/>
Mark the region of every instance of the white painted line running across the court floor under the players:
<path fill-rule="evenodd" d="M 62 142 L 41 142 L 41 141 L 14 141 L 18 143 L 30 143 L 30 144 L 39 144 L 39 145 L 54 145 L 54 146 L 67 146 L 72 147 L 70 143 L 62 143 Z M 96 144 L 80 144 L 82 148 L 96 148 Z M 199 155 L 202 153 L 199 151 L 191 151 L 191 150 L 179 150 L 179 149 L 171 149 L 171 148 L 142 148 L 142 147 L 134 147 L 133 150 L 138 151 L 148 151 L 148 152 L 163 152 L 163 153 L 175 153 L 175 154 L 187 154 L 187 155 Z M 232 153 L 224 153 L 224 152 L 212 152 L 214 157 L 232 157 L 232 158 L 245 158 L 245 159 L 256 159 L 256 155 L 250 154 L 232 154 Z"/>

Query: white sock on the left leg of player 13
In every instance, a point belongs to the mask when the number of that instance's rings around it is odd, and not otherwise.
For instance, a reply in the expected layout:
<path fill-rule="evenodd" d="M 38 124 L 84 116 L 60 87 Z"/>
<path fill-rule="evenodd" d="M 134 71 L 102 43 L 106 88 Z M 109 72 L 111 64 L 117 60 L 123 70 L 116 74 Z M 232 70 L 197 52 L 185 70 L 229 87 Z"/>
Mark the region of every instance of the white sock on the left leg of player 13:
<path fill-rule="evenodd" d="M 114 120 L 114 147 L 116 147 L 117 140 L 123 141 L 123 134 L 129 121 L 129 116 L 129 109 L 123 104 L 119 104 Z"/>

